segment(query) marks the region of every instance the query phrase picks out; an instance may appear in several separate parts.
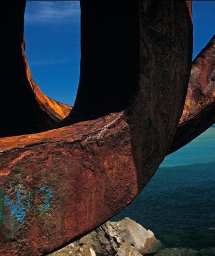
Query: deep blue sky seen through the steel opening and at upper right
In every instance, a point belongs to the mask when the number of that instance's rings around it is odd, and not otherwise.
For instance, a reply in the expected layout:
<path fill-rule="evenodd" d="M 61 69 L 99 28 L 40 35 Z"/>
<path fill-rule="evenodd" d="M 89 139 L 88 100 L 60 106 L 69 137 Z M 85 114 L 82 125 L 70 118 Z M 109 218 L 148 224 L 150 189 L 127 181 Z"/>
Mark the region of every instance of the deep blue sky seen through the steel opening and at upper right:
<path fill-rule="evenodd" d="M 215 33 L 214 14 L 215 1 L 193 1 L 193 57 Z M 49 97 L 73 105 L 79 80 L 79 2 L 27 1 L 24 33 L 26 55 L 38 86 Z"/>

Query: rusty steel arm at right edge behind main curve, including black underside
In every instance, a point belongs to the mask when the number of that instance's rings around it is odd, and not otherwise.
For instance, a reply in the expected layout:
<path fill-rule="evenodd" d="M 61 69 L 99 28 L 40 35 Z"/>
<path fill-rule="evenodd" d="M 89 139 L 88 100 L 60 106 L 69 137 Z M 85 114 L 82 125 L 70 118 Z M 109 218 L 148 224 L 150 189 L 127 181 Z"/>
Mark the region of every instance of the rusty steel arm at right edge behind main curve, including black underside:
<path fill-rule="evenodd" d="M 215 35 L 193 60 L 183 114 L 171 143 L 172 153 L 215 122 Z"/>

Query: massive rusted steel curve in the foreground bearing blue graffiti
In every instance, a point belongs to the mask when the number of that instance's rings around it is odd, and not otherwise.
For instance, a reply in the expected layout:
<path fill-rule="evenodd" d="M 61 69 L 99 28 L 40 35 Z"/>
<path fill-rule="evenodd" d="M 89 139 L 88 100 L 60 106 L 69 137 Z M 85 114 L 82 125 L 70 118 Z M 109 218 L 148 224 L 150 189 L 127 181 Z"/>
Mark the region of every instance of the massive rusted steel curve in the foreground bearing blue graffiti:
<path fill-rule="evenodd" d="M 33 95 L 28 106 L 47 129 L 49 107 L 36 104 L 41 94 L 33 94 L 39 89 L 20 55 L 24 3 L 10 5 L 13 33 L 4 43 L 14 45 L 15 76 L 4 82 Z M 0 139 L 0 255 L 42 255 L 109 220 L 147 184 L 176 132 L 191 72 L 191 2 L 85 1 L 81 13 L 80 82 L 68 126 Z"/>

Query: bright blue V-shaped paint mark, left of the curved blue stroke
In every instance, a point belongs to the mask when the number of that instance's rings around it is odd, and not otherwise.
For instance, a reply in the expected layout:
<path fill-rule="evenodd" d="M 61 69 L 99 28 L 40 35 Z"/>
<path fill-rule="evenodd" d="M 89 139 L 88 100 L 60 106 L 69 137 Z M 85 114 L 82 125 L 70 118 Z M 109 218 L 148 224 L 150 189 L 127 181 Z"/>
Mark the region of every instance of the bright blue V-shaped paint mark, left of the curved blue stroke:
<path fill-rule="evenodd" d="M 23 193 L 23 186 L 21 186 L 21 193 Z M 24 220 L 25 209 L 20 198 L 19 187 L 17 187 L 17 207 L 14 203 L 9 201 L 9 198 L 7 195 L 5 196 L 5 204 L 8 206 L 8 209 L 10 210 L 10 212 L 14 214 L 18 222 L 22 222 Z"/>

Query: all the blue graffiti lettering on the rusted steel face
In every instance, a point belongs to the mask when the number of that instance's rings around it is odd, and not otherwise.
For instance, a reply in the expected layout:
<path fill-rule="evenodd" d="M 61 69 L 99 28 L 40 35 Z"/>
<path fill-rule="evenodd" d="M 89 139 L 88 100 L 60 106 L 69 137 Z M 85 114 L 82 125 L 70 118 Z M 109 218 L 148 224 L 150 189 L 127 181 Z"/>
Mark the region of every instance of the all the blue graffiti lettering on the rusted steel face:
<path fill-rule="evenodd" d="M 16 217 L 18 222 L 22 222 L 25 218 L 26 210 L 25 208 L 31 209 L 32 208 L 32 192 L 24 192 L 23 184 L 17 186 L 15 188 L 17 202 L 16 205 L 9 200 L 7 195 L 4 196 L 4 204 L 8 207 L 8 210 Z M 48 187 L 39 186 L 37 188 L 39 191 L 46 193 L 45 197 L 43 198 L 43 204 L 40 207 L 36 207 L 39 212 L 47 211 L 50 208 L 50 200 L 52 199 L 52 192 Z M 33 190 L 34 191 L 34 190 Z M 34 204 L 35 205 L 35 204 Z"/>

